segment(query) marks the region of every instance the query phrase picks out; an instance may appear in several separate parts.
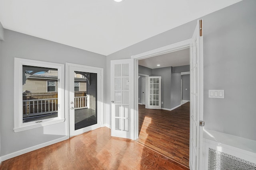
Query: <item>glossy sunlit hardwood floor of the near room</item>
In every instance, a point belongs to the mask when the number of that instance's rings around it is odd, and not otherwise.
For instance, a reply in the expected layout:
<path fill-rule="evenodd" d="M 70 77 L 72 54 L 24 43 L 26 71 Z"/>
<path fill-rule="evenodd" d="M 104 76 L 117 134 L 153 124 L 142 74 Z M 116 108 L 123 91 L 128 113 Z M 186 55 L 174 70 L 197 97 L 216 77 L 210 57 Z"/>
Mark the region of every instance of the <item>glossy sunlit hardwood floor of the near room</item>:
<path fill-rule="evenodd" d="M 5 160 L 0 165 L 0 170 L 144 169 L 188 170 L 136 141 L 111 137 L 107 127 Z"/>

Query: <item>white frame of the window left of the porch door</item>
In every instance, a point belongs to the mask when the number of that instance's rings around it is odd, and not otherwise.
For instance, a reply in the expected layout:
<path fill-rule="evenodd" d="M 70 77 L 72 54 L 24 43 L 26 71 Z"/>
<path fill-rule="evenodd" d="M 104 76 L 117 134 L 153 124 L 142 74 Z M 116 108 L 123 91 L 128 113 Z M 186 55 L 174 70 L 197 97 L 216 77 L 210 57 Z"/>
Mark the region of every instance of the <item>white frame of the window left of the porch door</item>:
<path fill-rule="evenodd" d="M 58 117 L 23 123 L 22 116 L 22 66 L 58 69 Z M 60 81 L 59 81 L 60 80 Z M 14 132 L 25 131 L 64 122 L 64 64 L 14 58 Z"/>

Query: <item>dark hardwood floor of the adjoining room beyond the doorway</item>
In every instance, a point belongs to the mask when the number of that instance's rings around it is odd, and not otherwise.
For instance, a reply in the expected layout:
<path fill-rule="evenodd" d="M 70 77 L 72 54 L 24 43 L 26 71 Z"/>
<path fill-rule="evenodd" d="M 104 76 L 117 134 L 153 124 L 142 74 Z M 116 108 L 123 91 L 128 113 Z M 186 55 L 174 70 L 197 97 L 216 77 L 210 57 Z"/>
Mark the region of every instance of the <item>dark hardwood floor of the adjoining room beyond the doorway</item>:
<path fill-rule="evenodd" d="M 146 147 L 189 168 L 190 102 L 172 110 L 139 105 L 139 139 Z"/>

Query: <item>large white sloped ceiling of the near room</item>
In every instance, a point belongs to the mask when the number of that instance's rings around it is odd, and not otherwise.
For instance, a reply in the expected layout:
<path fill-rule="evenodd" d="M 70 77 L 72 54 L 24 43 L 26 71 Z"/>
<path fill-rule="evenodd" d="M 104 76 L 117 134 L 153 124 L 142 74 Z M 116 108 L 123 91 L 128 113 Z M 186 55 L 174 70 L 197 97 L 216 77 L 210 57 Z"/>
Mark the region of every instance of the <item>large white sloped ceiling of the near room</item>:
<path fill-rule="evenodd" d="M 3 27 L 109 55 L 241 0 L 0 0 Z"/>

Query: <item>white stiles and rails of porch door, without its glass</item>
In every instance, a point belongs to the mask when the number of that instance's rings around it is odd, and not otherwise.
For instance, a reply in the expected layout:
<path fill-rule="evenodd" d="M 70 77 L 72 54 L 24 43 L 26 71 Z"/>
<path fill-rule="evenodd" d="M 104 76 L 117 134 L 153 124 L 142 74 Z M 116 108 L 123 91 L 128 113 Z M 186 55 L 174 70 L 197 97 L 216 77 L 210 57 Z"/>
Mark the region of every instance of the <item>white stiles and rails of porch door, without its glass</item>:
<path fill-rule="evenodd" d="M 97 73 L 97 123 L 88 127 L 75 130 L 75 101 L 74 101 L 74 72 Z M 103 117 L 103 68 L 66 63 L 68 113 L 70 137 L 102 127 Z"/>

